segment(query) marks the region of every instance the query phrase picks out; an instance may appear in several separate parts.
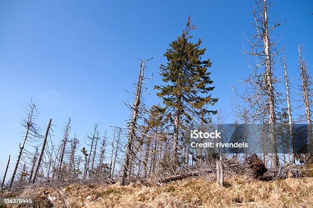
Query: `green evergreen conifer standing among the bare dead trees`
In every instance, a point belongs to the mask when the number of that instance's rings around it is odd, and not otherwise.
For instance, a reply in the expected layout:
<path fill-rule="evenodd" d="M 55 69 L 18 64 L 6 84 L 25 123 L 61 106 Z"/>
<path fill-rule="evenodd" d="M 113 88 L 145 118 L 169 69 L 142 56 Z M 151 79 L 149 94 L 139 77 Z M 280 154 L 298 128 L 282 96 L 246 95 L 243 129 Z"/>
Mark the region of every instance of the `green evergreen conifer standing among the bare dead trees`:
<path fill-rule="evenodd" d="M 172 165 L 177 165 L 178 162 L 178 134 L 182 121 L 190 122 L 193 117 L 208 122 L 210 114 L 217 113 L 207 109 L 208 105 L 213 106 L 218 99 L 212 98 L 210 92 L 214 87 L 208 86 L 213 83 L 208 72 L 210 59 L 202 61 L 206 49 L 200 48 L 200 39 L 196 43 L 190 40 L 192 36 L 189 32 L 193 29 L 195 26 L 191 25 L 189 16 L 186 29 L 170 43 L 170 48 L 164 54 L 167 65 L 160 66 L 160 75 L 167 85 L 154 86 L 160 90 L 157 95 L 163 98 L 165 106 L 174 117 Z"/>

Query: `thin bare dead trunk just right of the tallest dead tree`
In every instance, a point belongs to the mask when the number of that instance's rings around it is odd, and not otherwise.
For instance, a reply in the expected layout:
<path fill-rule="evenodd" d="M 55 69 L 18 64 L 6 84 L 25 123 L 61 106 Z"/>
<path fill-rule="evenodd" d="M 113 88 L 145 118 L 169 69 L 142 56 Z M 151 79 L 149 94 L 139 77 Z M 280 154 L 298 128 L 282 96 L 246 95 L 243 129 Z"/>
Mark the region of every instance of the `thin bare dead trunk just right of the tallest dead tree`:
<path fill-rule="evenodd" d="M 290 107 L 290 98 L 289 98 L 289 79 L 288 79 L 287 70 L 286 70 L 286 60 L 285 60 L 284 48 L 282 50 L 283 50 L 283 68 L 284 68 L 284 77 L 285 77 L 285 86 L 286 86 L 286 98 L 287 98 L 287 110 L 288 110 L 288 120 L 289 120 L 289 135 L 290 135 L 290 139 L 291 139 L 292 163 L 294 165 L 296 165 L 294 136 L 293 136 L 292 111 L 291 111 L 291 107 Z"/>

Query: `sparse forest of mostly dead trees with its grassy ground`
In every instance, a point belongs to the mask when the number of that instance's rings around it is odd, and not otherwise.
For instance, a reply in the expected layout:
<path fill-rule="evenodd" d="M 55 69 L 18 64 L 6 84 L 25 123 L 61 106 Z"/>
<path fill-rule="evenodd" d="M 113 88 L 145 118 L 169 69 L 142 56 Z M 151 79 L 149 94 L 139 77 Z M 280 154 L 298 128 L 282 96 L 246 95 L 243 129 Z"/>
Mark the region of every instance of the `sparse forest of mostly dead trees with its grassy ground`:
<path fill-rule="evenodd" d="M 298 48 L 289 48 L 298 60 L 286 60 L 284 43 L 272 34 L 288 22 L 270 19 L 271 6 L 264 0 L 252 7 L 255 33 L 243 34 L 247 42 L 238 51 L 250 59 L 250 67 L 241 69 L 242 80 L 230 86 L 235 96 L 230 103 L 235 115 L 232 141 L 247 143 L 248 129 L 261 126 L 264 134 L 257 138 L 257 150 L 243 147 L 230 153 L 222 147 L 192 147 L 205 141 L 191 138 L 190 131 L 209 131 L 212 126 L 222 132 L 214 142 L 225 142 L 228 129 L 223 124 L 228 115 L 216 108 L 219 100 L 212 95 L 219 87 L 211 79 L 214 51 L 196 38 L 189 16 L 164 51 L 167 62 L 160 63 L 160 76 L 153 78 L 162 80 L 161 85 L 146 75 L 153 58 L 141 59 L 137 68 L 130 66 L 138 74 L 133 74 L 137 81 L 129 90 L 132 102 L 125 102 L 129 116 L 120 118 L 127 119 L 127 125 L 104 129 L 94 123 L 81 137 L 72 131 L 72 118 L 64 118 L 62 135 L 56 135 L 60 123 L 54 123 L 53 115 L 46 124 L 37 123 L 40 106 L 29 103 L 21 120 L 23 140 L 8 155 L 1 176 L 1 196 L 30 195 L 34 207 L 269 207 L 270 195 L 261 194 L 262 187 L 274 193 L 277 186 L 280 196 L 273 207 L 312 207 L 311 60 L 303 53 L 301 40 Z M 288 62 L 298 63 L 298 69 L 289 68 Z M 298 73 L 293 81 L 292 70 Z M 145 101 L 147 82 L 160 99 L 151 106 Z M 301 147 L 295 133 L 299 124 L 305 126 Z M 245 189 L 256 196 L 248 196 Z M 162 199 L 162 193 L 172 195 Z M 284 193 L 290 198 L 283 198 Z M 204 196 L 212 199 L 211 204 Z"/>

